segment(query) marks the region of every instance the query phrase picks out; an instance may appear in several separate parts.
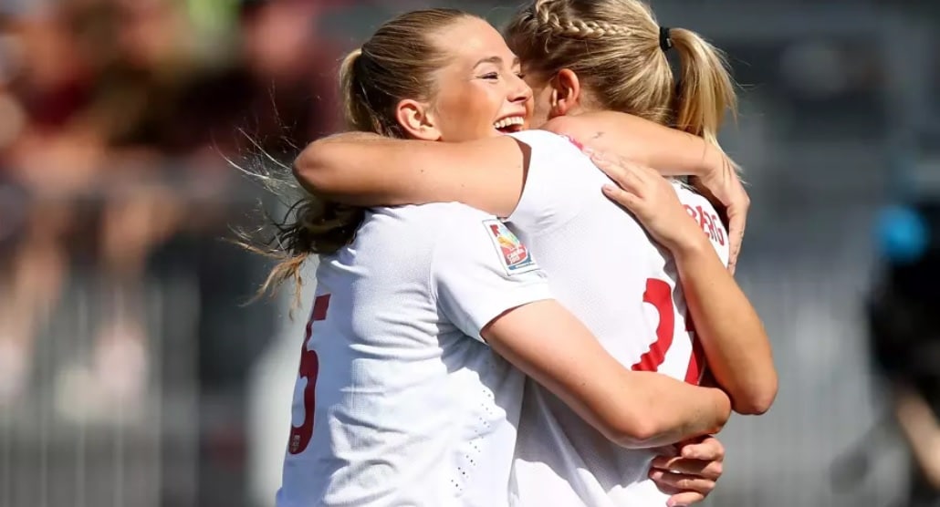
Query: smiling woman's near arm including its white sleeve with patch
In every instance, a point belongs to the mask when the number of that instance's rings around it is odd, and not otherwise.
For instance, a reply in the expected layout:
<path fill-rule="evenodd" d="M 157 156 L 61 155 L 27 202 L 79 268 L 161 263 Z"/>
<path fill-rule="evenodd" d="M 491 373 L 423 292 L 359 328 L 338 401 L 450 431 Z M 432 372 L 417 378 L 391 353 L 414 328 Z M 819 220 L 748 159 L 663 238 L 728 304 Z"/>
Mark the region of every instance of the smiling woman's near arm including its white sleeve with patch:
<path fill-rule="evenodd" d="M 485 341 L 605 436 L 628 447 L 654 447 L 711 434 L 728 420 L 725 392 L 632 372 L 607 353 L 552 299 L 545 273 L 505 224 L 458 205 L 433 213 L 440 228 L 425 236 L 433 241 L 429 284 L 441 315 Z M 610 297 L 623 298 L 625 291 L 638 295 L 642 287 L 623 287 Z M 623 339 L 642 340 L 650 330 L 637 322 L 619 332 Z"/>

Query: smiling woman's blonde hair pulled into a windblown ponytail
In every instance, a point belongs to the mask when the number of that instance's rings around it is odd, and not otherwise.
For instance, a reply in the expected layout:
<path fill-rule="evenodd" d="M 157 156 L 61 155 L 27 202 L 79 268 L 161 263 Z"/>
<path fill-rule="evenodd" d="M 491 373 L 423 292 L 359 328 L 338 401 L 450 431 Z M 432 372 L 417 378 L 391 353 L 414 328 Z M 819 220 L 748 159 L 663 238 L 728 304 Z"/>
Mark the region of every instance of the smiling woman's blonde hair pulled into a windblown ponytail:
<path fill-rule="evenodd" d="M 388 137 L 404 137 L 395 108 L 400 100 L 423 100 L 431 95 L 432 77 L 446 63 L 447 55 L 432 36 L 452 23 L 472 15 L 455 9 L 415 10 L 384 23 L 362 48 L 348 54 L 339 66 L 339 88 L 343 116 L 351 131 L 368 131 Z M 258 146 L 256 146 L 258 147 Z M 295 304 L 300 302 L 301 269 L 314 254 L 334 254 L 352 241 L 365 217 L 365 210 L 322 201 L 299 189 L 290 167 L 261 154 L 261 163 L 243 170 L 269 192 L 284 199 L 290 193 L 301 197 L 281 221 L 268 219 L 267 227 L 240 233 L 244 248 L 273 258 L 277 264 L 258 289 L 258 296 L 292 280 Z M 274 169 L 269 166 L 274 164 Z M 269 230 L 267 238 L 259 234 Z"/>

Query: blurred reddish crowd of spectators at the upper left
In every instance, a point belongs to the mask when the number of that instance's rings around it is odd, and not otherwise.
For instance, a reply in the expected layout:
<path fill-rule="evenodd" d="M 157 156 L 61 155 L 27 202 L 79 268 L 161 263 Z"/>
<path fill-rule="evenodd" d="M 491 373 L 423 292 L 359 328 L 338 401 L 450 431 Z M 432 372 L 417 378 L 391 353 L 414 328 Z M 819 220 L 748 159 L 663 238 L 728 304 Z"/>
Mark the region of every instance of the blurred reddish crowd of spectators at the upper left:
<path fill-rule="evenodd" d="M 54 0 L 0 7 L 0 407 L 28 389 L 36 337 L 92 272 L 90 358 L 69 374 L 121 403 L 146 383 L 149 258 L 224 236 L 228 161 L 337 128 L 341 43 L 316 0 Z M 105 374 L 106 372 L 106 374 Z"/>

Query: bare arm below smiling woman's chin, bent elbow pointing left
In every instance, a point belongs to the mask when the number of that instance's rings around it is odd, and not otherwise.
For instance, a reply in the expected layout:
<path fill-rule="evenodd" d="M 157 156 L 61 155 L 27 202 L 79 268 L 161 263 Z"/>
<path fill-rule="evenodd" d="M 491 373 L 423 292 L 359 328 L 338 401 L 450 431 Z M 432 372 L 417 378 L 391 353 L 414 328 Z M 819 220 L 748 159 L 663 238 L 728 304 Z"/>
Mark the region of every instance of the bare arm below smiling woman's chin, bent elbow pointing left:
<path fill-rule="evenodd" d="M 337 134 L 306 146 L 294 176 L 309 192 L 355 206 L 457 201 L 499 216 L 519 202 L 525 151 L 509 136 L 467 143 Z"/>

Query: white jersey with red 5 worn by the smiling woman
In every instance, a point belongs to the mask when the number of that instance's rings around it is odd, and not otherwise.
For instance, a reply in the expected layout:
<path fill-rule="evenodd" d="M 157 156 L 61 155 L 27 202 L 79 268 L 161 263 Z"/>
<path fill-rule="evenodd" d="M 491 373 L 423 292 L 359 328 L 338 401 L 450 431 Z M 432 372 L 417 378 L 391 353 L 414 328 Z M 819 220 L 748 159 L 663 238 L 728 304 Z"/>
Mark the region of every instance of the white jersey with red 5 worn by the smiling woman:
<path fill-rule="evenodd" d="M 479 330 L 551 298 L 525 246 L 471 207 L 375 208 L 317 281 L 278 506 L 507 505 L 524 376 Z"/>

